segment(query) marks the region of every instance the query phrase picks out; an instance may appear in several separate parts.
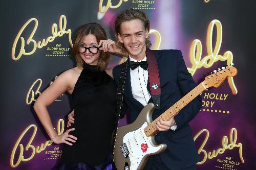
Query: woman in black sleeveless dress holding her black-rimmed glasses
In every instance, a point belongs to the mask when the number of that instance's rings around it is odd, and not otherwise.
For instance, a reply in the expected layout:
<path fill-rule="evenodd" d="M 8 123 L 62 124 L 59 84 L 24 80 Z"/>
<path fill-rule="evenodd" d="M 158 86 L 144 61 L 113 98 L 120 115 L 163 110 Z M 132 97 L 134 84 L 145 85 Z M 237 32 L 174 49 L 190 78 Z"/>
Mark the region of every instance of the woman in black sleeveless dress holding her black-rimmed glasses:
<path fill-rule="evenodd" d="M 77 66 L 63 72 L 41 93 L 34 110 L 54 143 L 65 143 L 58 169 L 112 169 L 111 140 L 116 116 L 116 85 L 106 69 L 112 52 L 122 55 L 97 23 L 82 26 L 75 36 Z M 58 135 L 47 107 L 62 93 L 72 94 L 76 122 Z"/>

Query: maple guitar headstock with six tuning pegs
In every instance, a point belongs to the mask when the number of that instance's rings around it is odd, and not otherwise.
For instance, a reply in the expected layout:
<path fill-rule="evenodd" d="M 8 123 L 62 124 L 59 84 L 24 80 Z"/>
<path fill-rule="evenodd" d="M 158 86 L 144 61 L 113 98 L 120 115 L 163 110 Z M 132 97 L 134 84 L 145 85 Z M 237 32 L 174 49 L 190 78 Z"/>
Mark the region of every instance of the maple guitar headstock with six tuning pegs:
<path fill-rule="evenodd" d="M 204 86 L 206 88 L 209 87 L 219 87 L 224 80 L 227 79 L 227 77 L 234 77 L 238 73 L 238 70 L 236 67 L 233 67 L 232 65 L 225 68 L 222 67 L 222 70 L 219 68 L 218 71 L 215 70 L 214 74 L 211 74 L 204 79 Z"/>

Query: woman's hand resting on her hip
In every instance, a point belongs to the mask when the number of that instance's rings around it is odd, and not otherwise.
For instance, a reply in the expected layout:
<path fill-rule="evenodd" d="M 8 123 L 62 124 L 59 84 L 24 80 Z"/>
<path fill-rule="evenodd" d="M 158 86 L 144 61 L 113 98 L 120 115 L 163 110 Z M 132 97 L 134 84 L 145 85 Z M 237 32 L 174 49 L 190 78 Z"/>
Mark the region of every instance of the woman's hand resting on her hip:
<path fill-rule="evenodd" d="M 77 140 L 77 137 L 73 136 L 73 135 L 70 135 L 69 133 L 71 131 L 74 131 L 75 128 L 72 128 L 72 129 L 68 129 L 66 132 L 64 132 L 62 135 L 57 135 L 55 136 L 52 141 L 56 144 L 59 144 L 59 143 L 66 143 L 68 145 L 73 145 L 72 143 L 70 143 L 69 141 L 71 142 L 76 142 Z"/>

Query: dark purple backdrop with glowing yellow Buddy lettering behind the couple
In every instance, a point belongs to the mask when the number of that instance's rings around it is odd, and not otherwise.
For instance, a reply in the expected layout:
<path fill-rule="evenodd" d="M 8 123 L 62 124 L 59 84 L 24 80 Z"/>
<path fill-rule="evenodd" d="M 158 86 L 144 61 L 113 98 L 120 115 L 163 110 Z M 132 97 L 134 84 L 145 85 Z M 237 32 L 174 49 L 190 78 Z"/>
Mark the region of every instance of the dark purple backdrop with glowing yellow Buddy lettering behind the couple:
<path fill-rule="evenodd" d="M 115 16 L 135 8 L 150 17 L 152 48 L 181 50 L 198 84 L 212 70 L 234 63 L 238 75 L 204 91 L 204 105 L 190 123 L 200 154 L 197 169 L 255 169 L 255 5 L 252 0 L 4 1 L 0 168 L 53 169 L 58 164 L 61 145 L 52 144 L 42 128 L 34 101 L 56 76 L 75 66 L 72 40 L 79 26 L 98 22 L 114 39 Z M 113 56 L 110 66 L 120 61 Z M 49 107 L 59 132 L 71 110 L 67 93 Z M 120 125 L 126 123 L 125 117 Z"/>

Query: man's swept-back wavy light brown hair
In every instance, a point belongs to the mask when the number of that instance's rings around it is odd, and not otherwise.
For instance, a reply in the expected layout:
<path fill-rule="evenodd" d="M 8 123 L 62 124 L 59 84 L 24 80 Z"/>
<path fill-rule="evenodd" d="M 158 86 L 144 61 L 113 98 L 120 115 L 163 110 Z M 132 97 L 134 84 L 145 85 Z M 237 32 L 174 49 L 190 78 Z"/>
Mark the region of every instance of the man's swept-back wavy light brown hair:
<path fill-rule="evenodd" d="M 123 53 L 127 53 L 127 51 L 126 51 L 123 43 L 121 43 L 118 40 L 118 33 L 120 34 L 120 27 L 121 27 L 122 22 L 130 21 L 133 19 L 140 19 L 144 25 L 145 30 L 150 32 L 150 20 L 148 19 L 146 13 L 139 11 L 137 9 L 133 9 L 133 8 L 121 12 L 116 17 L 116 20 L 115 20 L 115 36 L 117 39 L 117 46 L 122 50 Z M 149 36 L 146 38 L 146 47 L 147 48 L 151 47 L 151 41 L 150 41 Z"/>

